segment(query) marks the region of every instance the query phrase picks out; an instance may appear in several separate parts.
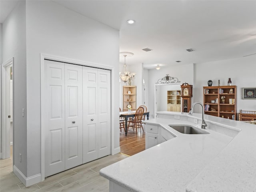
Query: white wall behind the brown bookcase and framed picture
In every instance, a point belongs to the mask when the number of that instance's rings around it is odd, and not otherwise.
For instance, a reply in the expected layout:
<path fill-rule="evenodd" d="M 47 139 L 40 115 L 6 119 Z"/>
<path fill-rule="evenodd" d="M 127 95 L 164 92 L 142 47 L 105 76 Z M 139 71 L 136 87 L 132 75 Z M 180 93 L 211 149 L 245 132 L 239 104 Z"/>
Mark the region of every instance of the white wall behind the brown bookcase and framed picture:
<path fill-rule="evenodd" d="M 218 86 L 218 80 L 221 86 L 226 86 L 228 78 L 237 86 L 237 112 L 241 109 L 255 111 L 256 100 L 243 100 L 242 88 L 256 87 L 256 55 L 196 64 L 194 102 L 203 102 L 202 87 L 208 86 L 208 80 L 212 80 L 212 86 Z"/>

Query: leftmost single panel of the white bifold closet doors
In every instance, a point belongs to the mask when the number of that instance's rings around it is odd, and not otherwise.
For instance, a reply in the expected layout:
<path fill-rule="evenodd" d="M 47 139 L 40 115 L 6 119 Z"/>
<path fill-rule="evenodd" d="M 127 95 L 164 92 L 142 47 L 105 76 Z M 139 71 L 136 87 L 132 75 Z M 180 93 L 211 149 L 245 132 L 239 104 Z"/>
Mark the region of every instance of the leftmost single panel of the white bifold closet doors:
<path fill-rule="evenodd" d="M 65 170 L 64 63 L 45 60 L 45 176 Z"/>

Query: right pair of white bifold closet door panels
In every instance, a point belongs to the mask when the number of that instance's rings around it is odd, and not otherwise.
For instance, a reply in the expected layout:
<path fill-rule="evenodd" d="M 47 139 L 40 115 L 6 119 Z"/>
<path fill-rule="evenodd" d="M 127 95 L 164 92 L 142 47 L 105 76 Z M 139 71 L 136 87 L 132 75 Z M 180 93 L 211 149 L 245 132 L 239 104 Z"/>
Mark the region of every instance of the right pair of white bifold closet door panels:
<path fill-rule="evenodd" d="M 110 71 L 83 67 L 83 163 L 110 154 Z"/>

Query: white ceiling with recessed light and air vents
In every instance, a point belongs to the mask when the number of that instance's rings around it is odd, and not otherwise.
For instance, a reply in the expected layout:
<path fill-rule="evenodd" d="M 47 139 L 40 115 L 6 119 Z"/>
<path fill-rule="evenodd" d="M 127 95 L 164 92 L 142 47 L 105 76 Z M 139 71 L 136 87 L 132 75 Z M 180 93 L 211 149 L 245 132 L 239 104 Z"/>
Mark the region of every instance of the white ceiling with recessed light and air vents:
<path fill-rule="evenodd" d="M 134 53 L 126 59 L 128 65 L 143 63 L 152 69 L 157 64 L 204 63 L 256 54 L 254 0 L 53 1 L 120 30 L 120 52 Z M 1 19 L 2 2 L 15 1 L 1 0 Z M 127 24 L 128 19 L 135 24 Z M 186 51 L 189 48 L 194 51 Z"/>

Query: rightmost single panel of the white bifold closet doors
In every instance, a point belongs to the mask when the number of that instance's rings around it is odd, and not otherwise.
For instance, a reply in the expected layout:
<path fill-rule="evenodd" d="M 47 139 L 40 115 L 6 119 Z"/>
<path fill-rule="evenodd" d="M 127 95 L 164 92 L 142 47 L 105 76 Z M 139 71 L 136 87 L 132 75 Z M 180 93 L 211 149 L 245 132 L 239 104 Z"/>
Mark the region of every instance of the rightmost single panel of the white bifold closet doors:
<path fill-rule="evenodd" d="M 110 71 L 98 69 L 98 158 L 111 152 Z"/>

